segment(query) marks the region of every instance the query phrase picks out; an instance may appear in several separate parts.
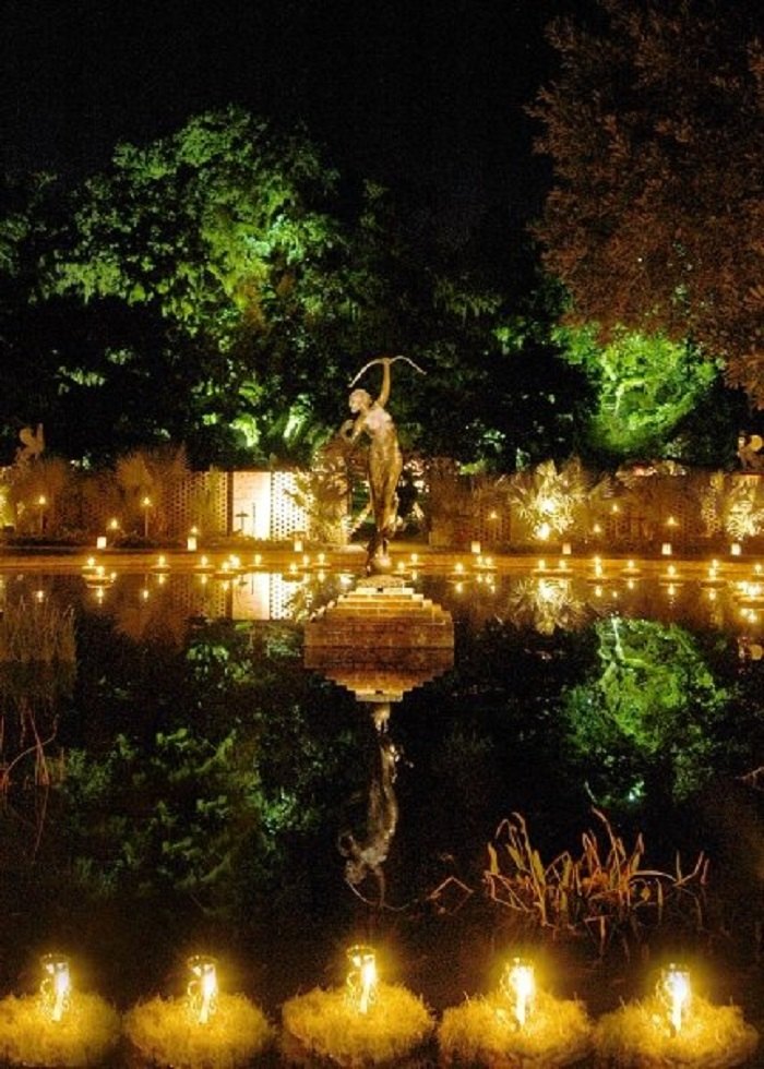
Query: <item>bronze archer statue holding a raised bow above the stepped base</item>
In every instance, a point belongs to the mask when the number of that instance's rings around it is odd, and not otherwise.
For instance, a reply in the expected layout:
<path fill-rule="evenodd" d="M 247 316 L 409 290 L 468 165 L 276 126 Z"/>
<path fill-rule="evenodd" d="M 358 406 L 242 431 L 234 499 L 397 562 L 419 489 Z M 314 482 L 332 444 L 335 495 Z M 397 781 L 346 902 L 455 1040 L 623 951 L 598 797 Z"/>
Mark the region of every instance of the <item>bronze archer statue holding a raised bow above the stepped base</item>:
<path fill-rule="evenodd" d="M 358 380 L 373 364 L 382 364 L 382 388 L 377 400 L 366 389 L 354 389 L 350 394 L 350 411 L 355 419 L 346 420 L 341 433 L 350 445 L 355 445 L 361 434 L 369 439 L 367 475 L 371 508 L 374 516 L 374 532 L 367 546 L 366 569 L 369 574 L 383 574 L 390 570 L 387 541 L 395 533 L 398 511 L 396 493 L 398 479 L 403 469 L 403 456 L 398 445 L 398 435 L 390 412 L 385 409 L 390 397 L 391 365 L 396 360 L 405 360 L 423 374 L 408 357 L 379 357 L 370 360 L 358 372 L 350 383 L 355 386 Z"/>

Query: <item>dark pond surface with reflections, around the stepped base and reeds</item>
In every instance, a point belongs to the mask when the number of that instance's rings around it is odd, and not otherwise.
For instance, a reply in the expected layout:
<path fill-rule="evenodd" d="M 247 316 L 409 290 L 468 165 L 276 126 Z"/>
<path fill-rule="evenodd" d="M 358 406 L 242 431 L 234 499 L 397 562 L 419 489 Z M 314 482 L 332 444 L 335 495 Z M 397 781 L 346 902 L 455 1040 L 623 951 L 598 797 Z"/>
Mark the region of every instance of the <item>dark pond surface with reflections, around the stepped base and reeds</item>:
<path fill-rule="evenodd" d="M 334 982 L 363 938 L 440 1009 L 485 989 L 520 939 L 547 948 L 562 994 L 606 1009 L 664 945 L 700 954 L 716 994 L 761 1019 L 757 589 L 410 581 L 452 614 L 454 665 L 395 701 L 381 733 L 373 707 L 303 666 L 303 623 L 347 578 L 2 577 L 5 624 L 37 613 L 76 646 L 75 665 L 45 663 L 28 637 L 0 662 L 3 992 L 31 989 L 55 947 L 127 1007 L 181 989 L 203 948 L 275 1013 Z M 504 818 L 522 815 L 546 862 L 588 828 L 607 839 L 597 813 L 629 846 L 644 833 L 648 867 L 709 855 L 703 930 L 688 915 L 595 969 L 594 940 L 550 944 L 491 903 Z M 377 868 L 348 868 L 354 846 Z"/>

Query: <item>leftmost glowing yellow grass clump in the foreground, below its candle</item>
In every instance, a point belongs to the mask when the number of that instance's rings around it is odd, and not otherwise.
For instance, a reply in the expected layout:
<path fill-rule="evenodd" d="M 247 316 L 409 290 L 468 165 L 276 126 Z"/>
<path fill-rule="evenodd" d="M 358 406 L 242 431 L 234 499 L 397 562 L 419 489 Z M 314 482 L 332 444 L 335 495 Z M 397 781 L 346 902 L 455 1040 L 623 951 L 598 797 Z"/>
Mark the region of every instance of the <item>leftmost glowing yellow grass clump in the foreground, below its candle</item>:
<path fill-rule="evenodd" d="M 103 1065 L 120 1037 L 119 1013 L 99 995 L 77 992 L 60 1021 L 38 996 L 0 1001 L 0 1061 L 24 1066 Z"/>

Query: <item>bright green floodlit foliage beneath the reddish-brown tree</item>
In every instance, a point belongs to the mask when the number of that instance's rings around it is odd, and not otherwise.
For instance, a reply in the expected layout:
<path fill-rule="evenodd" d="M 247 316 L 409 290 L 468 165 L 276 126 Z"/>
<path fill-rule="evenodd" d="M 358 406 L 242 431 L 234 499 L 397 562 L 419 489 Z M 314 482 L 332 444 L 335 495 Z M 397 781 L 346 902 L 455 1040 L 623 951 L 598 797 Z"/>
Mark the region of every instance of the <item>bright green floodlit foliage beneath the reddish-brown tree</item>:
<path fill-rule="evenodd" d="M 662 335 L 617 328 L 601 343 L 589 325 L 561 327 L 557 339 L 563 359 L 581 367 L 595 388 L 589 445 L 618 457 L 662 455 L 718 375 L 692 346 Z"/>

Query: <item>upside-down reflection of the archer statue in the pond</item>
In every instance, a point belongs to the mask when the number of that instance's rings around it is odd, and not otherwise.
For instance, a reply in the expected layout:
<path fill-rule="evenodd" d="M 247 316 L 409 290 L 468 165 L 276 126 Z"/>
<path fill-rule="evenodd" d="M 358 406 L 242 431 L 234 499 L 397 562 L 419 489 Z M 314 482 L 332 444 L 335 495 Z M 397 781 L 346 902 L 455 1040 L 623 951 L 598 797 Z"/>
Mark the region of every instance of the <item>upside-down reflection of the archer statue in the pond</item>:
<path fill-rule="evenodd" d="M 378 761 L 369 784 L 366 834 L 357 839 L 351 831 L 344 831 L 337 839 L 345 862 L 345 879 L 365 902 L 385 904 L 384 863 L 398 822 L 398 803 L 395 797 L 395 779 L 401 752 L 389 731 L 390 704 L 373 706 L 373 722 L 378 740 Z M 372 901 L 361 893 L 367 879 L 377 880 L 378 897 Z"/>

